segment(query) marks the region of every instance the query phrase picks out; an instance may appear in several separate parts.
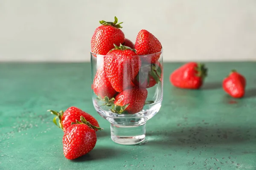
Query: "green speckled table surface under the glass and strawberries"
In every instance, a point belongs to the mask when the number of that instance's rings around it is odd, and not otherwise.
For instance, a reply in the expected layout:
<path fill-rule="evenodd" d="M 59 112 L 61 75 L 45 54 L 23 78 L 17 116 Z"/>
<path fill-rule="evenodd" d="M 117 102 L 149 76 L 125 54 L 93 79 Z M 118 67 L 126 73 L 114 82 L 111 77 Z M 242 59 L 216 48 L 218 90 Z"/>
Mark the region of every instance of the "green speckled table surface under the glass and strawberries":
<path fill-rule="evenodd" d="M 256 62 L 207 62 L 200 90 L 173 87 L 164 64 L 164 97 L 147 122 L 146 141 L 111 141 L 110 124 L 91 99 L 90 63 L 0 63 L 0 170 L 256 170 Z M 246 95 L 233 99 L 221 82 L 236 68 Z M 104 130 L 95 148 L 70 161 L 48 109 L 76 106 Z"/>

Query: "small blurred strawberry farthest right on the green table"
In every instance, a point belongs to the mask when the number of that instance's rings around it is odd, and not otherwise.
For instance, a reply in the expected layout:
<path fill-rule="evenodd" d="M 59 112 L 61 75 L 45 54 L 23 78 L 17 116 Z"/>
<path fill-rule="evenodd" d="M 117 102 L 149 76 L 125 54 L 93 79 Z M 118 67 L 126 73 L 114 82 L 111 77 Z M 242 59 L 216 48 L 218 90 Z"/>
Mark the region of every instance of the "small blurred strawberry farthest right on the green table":
<path fill-rule="evenodd" d="M 222 82 L 224 91 L 234 98 L 241 98 L 244 96 L 245 86 L 246 79 L 236 70 L 231 71 L 229 76 Z"/>

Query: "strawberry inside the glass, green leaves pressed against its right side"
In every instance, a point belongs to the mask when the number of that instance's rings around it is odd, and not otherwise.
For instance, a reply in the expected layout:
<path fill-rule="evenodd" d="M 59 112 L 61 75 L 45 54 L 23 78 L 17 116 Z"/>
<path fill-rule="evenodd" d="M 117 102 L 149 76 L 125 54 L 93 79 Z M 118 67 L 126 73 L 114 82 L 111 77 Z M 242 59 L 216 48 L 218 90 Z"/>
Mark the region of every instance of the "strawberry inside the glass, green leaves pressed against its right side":
<path fill-rule="evenodd" d="M 143 64 L 133 82 L 137 87 L 151 88 L 161 81 L 161 77 L 162 65 L 156 61 L 155 64 Z"/>

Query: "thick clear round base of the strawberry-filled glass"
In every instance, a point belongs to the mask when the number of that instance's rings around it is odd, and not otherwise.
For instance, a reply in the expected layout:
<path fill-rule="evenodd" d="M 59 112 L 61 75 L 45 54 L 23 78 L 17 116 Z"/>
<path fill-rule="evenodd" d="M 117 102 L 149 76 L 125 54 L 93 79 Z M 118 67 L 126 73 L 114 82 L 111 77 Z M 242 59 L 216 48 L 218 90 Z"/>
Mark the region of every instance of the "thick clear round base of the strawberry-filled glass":
<path fill-rule="evenodd" d="M 111 139 L 118 144 L 140 144 L 144 141 L 145 134 L 146 124 L 137 126 L 119 126 L 111 124 Z"/>

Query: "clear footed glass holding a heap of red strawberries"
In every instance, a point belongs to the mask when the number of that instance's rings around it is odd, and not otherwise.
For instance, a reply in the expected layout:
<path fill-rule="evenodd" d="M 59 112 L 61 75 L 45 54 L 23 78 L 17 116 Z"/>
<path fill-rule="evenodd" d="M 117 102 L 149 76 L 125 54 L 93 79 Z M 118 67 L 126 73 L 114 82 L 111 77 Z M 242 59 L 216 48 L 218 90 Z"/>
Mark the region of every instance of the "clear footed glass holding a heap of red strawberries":
<path fill-rule="evenodd" d="M 163 50 L 116 60 L 91 53 L 91 76 L 93 105 L 110 122 L 113 142 L 143 142 L 146 122 L 163 100 Z"/>

